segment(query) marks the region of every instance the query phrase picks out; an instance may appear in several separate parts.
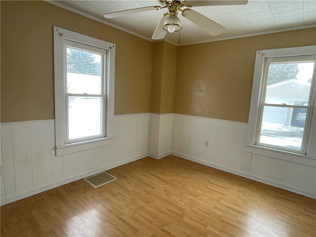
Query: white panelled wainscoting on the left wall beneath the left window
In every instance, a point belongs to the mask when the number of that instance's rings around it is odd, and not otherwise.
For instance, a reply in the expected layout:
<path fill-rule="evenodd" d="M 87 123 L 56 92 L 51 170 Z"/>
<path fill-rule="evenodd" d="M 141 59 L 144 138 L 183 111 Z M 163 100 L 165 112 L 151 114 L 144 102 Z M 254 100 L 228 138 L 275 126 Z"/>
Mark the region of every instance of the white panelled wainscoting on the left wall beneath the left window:
<path fill-rule="evenodd" d="M 1 205 L 148 156 L 149 121 L 115 116 L 113 145 L 60 157 L 54 120 L 1 123 Z"/>

